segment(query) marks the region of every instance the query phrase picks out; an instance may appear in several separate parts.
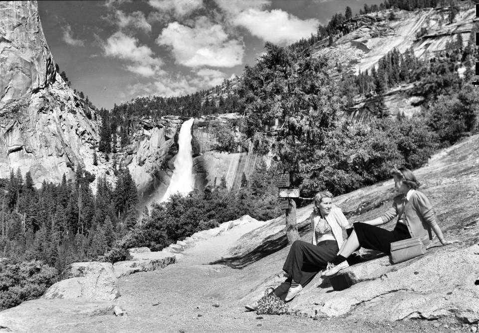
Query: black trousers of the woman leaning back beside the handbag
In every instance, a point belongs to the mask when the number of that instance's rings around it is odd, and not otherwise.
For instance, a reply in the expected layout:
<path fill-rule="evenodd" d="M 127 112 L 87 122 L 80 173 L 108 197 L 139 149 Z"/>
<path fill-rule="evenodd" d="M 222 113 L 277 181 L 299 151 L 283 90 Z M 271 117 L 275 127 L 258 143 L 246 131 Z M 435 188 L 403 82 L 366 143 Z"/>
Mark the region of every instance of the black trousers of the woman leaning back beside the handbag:
<path fill-rule="evenodd" d="M 397 223 L 393 231 L 361 222 L 353 226 L 360 246 L 387 254 L 391 254 L 391 243 L 411 238 L 408 227 L 402 223 Z"/>

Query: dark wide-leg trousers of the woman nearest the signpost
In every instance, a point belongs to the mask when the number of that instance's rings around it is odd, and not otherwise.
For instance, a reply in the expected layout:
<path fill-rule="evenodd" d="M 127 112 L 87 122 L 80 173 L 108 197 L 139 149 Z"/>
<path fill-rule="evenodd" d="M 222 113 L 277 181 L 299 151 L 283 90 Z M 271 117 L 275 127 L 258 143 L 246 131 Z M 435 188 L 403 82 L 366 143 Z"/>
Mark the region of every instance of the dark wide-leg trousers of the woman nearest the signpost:
<path fill-rule="evenodd" d="M 318 245 L 295 241 L 289 249 L 283 266 L 283 271 L 290 277 L 274 290 L 276 296 L 284 301 L 291 287 L 291 280 L 305 287 L 319 271 L 326 268 L 328 262 L 336 256 L 338 251 L 336 241 L 323 241 Z"/>

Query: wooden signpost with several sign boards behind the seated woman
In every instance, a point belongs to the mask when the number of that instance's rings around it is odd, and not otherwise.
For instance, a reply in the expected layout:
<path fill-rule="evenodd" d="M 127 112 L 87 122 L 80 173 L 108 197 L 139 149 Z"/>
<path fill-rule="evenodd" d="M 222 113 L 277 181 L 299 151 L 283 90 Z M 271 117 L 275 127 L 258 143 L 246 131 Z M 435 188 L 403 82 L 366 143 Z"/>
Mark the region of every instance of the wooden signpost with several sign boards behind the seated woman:
<path fill-rule="evenodd" d="M 286 210 L 286 237 L 292 244 L 299 239 L 298 225 L 296 222 L 296 202 L 292 198 L 299 198 L 299 188 L 291 188 L 291 175 L 289 172 L 279 174 L 278 197 L 281 200 L 281 209 Z"/>

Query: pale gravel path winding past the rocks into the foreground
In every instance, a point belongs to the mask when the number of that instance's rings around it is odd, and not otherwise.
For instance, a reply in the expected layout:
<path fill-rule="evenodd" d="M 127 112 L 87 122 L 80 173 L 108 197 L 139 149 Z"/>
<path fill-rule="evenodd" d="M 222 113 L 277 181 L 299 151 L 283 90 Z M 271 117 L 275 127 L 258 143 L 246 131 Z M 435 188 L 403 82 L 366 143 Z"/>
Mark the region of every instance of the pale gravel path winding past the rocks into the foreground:
<path fill-rule="evenodd" d="M 235 288 L 240 270 L 209 263 L 228 255 L 246 232 L 263 222 L 235 227 L 201 240 L 165 269 L 121 278 L 117 304 L 128 316 L 96 316 L 71 323 L 68 332 L 441 332 L 417 323 L 316 321 L 297 316 L 258 316 L 222 292 Z M 233 293 L 234 295 L 234 293 Z"/>

